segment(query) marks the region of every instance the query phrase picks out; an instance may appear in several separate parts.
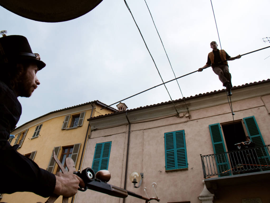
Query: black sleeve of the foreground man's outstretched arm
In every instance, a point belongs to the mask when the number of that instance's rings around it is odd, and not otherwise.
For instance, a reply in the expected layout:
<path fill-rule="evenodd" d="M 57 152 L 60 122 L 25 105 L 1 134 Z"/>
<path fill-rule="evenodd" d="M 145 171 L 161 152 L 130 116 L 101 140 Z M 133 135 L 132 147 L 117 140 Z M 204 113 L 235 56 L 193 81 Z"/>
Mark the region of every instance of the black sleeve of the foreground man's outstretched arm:
<path fill-rule="evenodd" d="M 39 168 L 31 159 L 18 153 L 18 145 L 11 147 L 8 142 L 1 143 L 0 193 L 25 191 L 42 197 L 52 195 L 56 183 L 55 175 Z"/>

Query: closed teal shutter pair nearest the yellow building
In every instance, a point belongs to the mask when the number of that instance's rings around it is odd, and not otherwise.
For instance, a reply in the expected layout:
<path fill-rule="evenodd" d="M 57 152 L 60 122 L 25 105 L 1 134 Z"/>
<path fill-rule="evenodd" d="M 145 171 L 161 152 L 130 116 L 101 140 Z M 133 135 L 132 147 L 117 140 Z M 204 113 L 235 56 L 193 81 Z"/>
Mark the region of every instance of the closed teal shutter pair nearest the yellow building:
<path fill-rule="evenodd" d="M 96 173 L 100 170 L 107 170 L 110 159 L 112 142 L 97 143 L 92 163 L 92 169 Z"/>

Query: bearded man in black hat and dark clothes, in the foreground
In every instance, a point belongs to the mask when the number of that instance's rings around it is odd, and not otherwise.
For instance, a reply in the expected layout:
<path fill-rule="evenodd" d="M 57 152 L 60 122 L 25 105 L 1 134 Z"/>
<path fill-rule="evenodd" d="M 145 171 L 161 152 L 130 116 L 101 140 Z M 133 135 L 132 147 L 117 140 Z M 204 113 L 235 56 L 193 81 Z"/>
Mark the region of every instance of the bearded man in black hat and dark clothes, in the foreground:
<path fill-rule="evenodd" d="M 42 197 L 53 193 L 71 197 L 83 180 L 75 174 L 50 173 L 17 152 L 8 142 L 22 107 L 17 97 L 30 97 L 40 84 L 36 73 L 45 67 L 33 54 L 27 39 L 19 35 L 0 38 L 0 193 L 34 192 Z"/>

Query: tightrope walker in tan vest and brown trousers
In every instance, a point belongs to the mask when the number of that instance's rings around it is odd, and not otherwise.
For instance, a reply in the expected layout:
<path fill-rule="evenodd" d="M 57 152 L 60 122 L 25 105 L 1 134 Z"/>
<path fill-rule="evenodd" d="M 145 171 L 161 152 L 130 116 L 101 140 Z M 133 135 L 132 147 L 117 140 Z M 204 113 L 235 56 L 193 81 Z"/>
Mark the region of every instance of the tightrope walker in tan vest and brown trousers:
<path fill-rule="evenodd" d="M 207 62 L 205 66 L 199 68 L 198 71 L 203 71 L 203 68 L 211 65 L 214 73 L 218 75 L 218 78 L 222 82 L 223 86 L 226 87 L 228 96 L 231 96 L 232 76 L 229 72 L 228 62 L 225 60 L 232 61 L 237 58 L 241 58 L 241 55 L 230 57 L 226 51 L 218 49 L 217 42 L 215 41 L 210 43 L 210 47 L 212 48 L 212 51 L 208 54 Z"/>

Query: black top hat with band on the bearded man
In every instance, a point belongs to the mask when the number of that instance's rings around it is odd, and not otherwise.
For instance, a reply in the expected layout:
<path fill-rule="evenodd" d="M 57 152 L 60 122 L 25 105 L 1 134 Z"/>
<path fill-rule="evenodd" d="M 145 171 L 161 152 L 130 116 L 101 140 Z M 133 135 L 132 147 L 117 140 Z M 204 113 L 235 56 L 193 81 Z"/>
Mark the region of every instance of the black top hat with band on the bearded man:
<path fill-rule="evenodd" d="M 33 61 L 39 70 L 46 64 L 40 61 L 39 54 L 33 54 L 26 37 L 9 35 L 0 38 L 0 64 Z"/>

